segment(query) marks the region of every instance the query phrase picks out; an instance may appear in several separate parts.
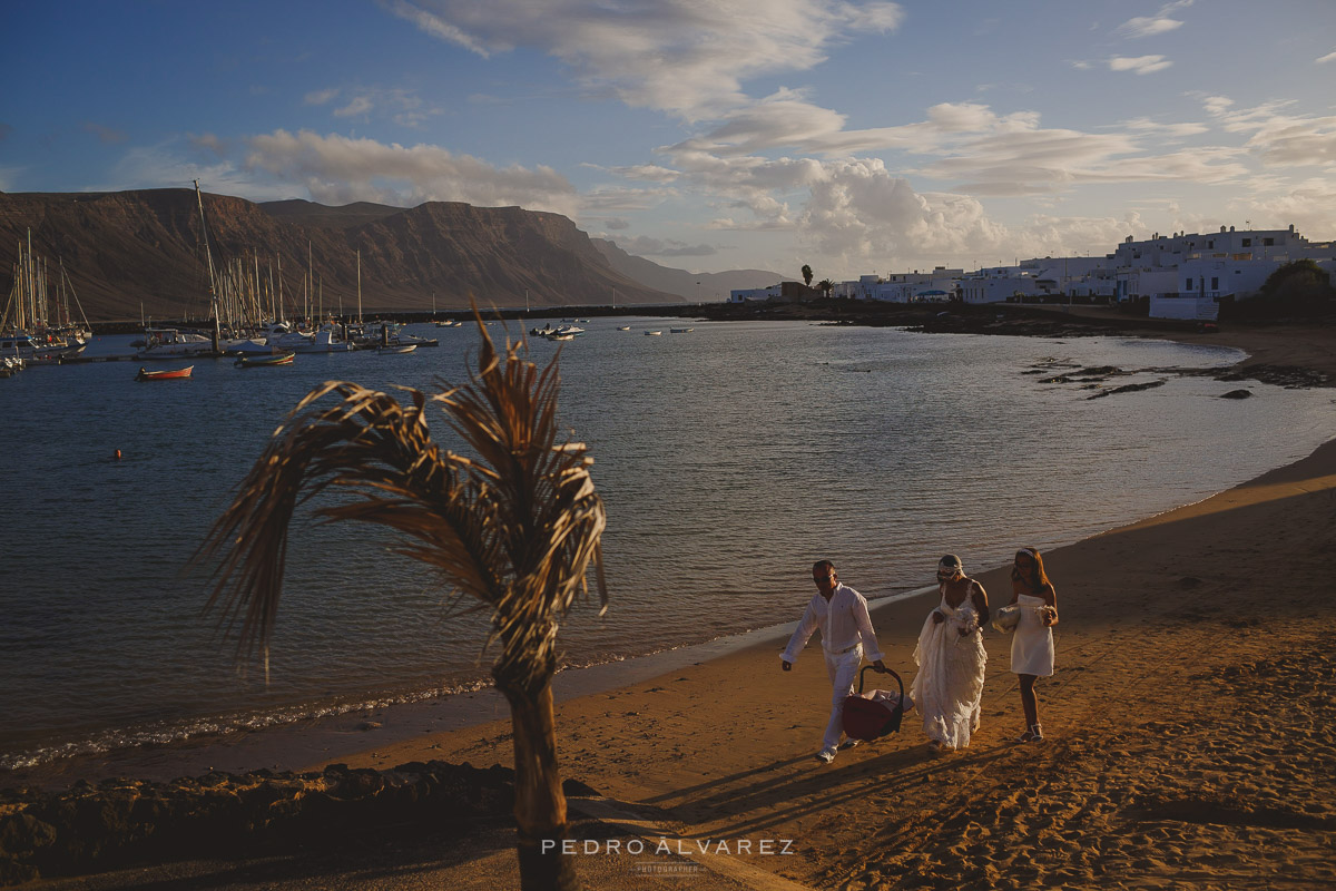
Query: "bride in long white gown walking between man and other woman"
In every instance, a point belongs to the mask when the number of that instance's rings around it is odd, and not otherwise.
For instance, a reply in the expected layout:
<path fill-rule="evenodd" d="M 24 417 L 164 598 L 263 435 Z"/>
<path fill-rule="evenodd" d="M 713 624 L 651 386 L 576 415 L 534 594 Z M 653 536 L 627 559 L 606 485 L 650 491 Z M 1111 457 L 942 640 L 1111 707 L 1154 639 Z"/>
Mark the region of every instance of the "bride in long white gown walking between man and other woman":
<path fill-rule="evenodd" d="M 979 697 L 983 695 L 981 628 L 989 620 L 989 596 L 983 585 L 965 574 L 961 558 L 942 557 L 937 565 L 942 602 L 929 613 L 919 633 L 914 661 L 919 667 L 910 688 L 915 708 L 923 715 L 930 745 L 965 748 L 979 728 Z"/>

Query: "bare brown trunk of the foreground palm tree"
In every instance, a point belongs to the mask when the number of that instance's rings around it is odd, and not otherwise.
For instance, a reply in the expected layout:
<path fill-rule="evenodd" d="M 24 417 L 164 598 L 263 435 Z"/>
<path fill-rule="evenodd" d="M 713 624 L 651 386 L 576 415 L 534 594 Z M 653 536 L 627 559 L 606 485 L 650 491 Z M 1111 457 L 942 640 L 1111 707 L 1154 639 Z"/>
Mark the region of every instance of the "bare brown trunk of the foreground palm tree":
<path fill-rule="evenodd" d="M 574 858 L 562 855 L 566 796 L 557 772 L 557 732 L 548 680 L 536 691 L 500 683 L 514 728 L 514 820 L 518 828 L 520 887 L 524 891 L 578 891 Z"/>

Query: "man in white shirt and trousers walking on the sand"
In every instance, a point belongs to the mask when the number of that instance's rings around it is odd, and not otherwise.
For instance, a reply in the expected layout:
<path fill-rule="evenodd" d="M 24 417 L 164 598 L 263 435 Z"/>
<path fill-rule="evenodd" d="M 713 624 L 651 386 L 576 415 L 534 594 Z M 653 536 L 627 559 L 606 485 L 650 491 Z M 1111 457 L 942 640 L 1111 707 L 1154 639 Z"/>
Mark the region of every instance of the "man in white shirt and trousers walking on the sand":
<path fill-rule="evenodd" d="M 835 760 L 835 751 L 839 748 L 844 697 L 854 692 L 854 677 L 858 675 L 864 651 L 876 671 L 884 672 L 886 665 L 882 664 L 882 651 L 876 647 L 876 632 L 872 631 L 872 620 L 867 614 L 867 600 L 863 594 L 839 582 L 835 564 L 830 560 L 818 560 L 812 564 L 812 581 L 816 582 L 816 593 L 807 604 L 794 636 L 788 639 L 788 648 L 780 656 L 780 665 L 786 672 L 790 671 L 812 633 L 818 628 L 822 629 L 826 673 L 830 675 L 832 689 L 831 720 L 826 725 L 826 736 L 822 739 L 822 751 L 816 753 L 816 760 L 828 764 Z M 846 748 L 854 745 L 858 745 L 858 740 L 851 739 L 846 743 Z"/>

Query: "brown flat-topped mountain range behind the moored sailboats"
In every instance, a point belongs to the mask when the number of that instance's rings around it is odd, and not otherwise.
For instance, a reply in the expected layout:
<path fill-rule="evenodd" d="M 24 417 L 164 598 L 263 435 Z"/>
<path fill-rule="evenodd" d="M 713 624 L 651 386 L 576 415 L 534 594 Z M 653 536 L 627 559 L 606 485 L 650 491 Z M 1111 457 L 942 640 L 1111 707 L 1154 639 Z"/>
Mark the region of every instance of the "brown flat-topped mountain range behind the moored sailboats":
<path fill-rule="evenodd" d="M 203 206 L 203 220 L 200 204 Z M 203 238 L 207 226 L 208 254 Z M 180 318 L 208 314 L 208 262 L 309 302 L 354 311 L 673 303 L 764 287 L 778 273 L 697 274 L 591 239 L 560 215 L 520 207 L 428 202 L 254 203 L 188 188 L 122 192 L 0 192 L 0 287 L 31 232 L 48 281 L 63 263 L 84 314 Z M 307 286 L 307 269 L 311 270 Z M 291 310 L 290 310 L 291 313 Z"/>

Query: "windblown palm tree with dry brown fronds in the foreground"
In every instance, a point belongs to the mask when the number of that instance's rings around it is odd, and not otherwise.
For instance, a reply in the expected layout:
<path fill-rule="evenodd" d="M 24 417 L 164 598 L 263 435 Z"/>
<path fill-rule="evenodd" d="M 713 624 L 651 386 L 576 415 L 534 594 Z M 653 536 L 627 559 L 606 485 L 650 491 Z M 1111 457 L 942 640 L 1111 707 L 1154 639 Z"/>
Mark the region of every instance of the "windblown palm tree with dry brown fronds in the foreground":
<path fill-rule="evenodd" d="M 441 570 L 453 589 L 452 606 L 472 597 L 480 601 L 473 608 L 492 610 L 488 643 L 501 644 L 492 676 L 514 728 L 521 887 L 574 888 L 572 858 L 561 855 L 566 800 L 550 681 L 557 622 L 588 594 L 589 568 L 607 608 L 604 506 L 587 446 L 557 441 L 557 361 L 540 371 L 509 339 L 500 357 L 477 309 L 474 318 L 482 335 L 478 370 L 462 387 L 430 398 L 403 387 L 406 402 L 346 382 L 309 393 L 195 560 L 219 557 L 206 609 L 219 610 L 228 629 L 240 621 L 238 659 L 258 645 L 267 673 L 293 510 L 330 486 L 359 494 L 315 513 L 397 530 L 403 537 L 398 553 Z M 342 402 L 313 407 L 330 393 Z M 474 457 L 432 441 L 429 402 L 441 406 Z"/>

